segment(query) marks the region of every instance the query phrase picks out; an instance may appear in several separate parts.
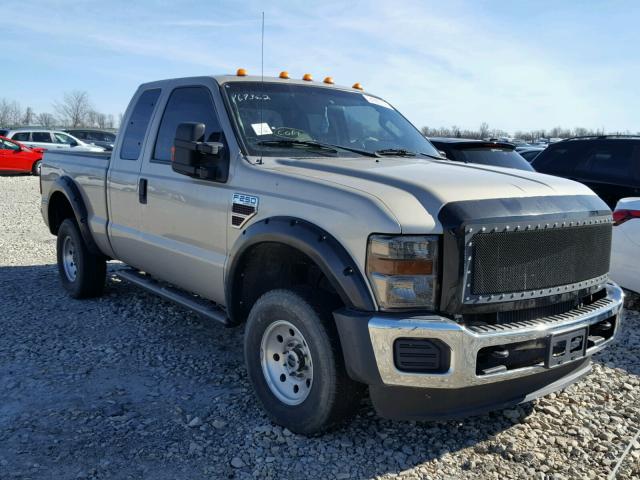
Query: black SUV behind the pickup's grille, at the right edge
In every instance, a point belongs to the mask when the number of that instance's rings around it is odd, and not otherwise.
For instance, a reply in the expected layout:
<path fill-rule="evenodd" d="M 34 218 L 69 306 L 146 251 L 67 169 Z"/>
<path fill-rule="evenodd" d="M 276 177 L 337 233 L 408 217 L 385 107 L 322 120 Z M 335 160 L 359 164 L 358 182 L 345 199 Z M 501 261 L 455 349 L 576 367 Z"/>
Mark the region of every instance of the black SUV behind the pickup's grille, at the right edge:
<path fill-rule="evenodd" d="M 549 145 L 533 167 L 584 183 L 613 209 L 640 195 L 640 136 L 569 138 Z"/>

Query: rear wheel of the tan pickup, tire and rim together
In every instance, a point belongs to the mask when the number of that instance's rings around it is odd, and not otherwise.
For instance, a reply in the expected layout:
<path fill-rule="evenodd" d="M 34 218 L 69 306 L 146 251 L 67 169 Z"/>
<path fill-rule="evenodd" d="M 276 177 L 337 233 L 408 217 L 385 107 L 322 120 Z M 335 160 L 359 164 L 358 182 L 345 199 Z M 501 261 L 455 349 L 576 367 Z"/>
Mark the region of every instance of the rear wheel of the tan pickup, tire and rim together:
<path fill-rule="evenodd" d="M 73 298 L 100 296 L 104 290 L 107 262 L 87 249 L 76 222 L 67 218 L 58 229 L 58 273 Z"/>

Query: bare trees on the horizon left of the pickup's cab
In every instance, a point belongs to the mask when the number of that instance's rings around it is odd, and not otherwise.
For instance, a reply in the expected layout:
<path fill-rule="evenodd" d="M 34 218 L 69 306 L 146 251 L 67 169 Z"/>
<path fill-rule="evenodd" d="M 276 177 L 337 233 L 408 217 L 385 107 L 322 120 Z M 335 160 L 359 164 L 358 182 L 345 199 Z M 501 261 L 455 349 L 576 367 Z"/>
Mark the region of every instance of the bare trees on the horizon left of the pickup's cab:
<path fill-rule="evenodd" d="M 116 120 L 112 114 L 97 111 L 91 103 L 89 94 L 83 90 L 64 93 L 60 100 L 52 104 L 51 112 L 37 113 L 30 106 L 23 107 L 15 100 L 0 98 L 0 127 L 115 129 L 121 119 L 122 114 Z"/>

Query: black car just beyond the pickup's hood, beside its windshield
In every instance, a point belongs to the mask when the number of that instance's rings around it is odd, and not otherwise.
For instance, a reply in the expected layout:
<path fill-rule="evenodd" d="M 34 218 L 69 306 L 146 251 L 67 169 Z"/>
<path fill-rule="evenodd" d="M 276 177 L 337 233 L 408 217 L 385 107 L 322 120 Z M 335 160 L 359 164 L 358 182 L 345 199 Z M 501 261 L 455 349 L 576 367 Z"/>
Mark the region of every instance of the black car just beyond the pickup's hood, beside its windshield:
<path fill-rule="evenodd" d="M 433 137 L 429 141 L 449 160 L 533 171 L 512 143 L 444 137 Z"/>

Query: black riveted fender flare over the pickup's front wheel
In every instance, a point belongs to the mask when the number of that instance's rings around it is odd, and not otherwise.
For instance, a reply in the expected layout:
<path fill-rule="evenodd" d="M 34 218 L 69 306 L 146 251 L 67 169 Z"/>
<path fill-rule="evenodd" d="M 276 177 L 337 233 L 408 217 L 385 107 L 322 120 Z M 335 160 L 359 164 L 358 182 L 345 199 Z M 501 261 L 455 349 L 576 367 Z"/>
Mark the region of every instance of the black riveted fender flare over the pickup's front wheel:
<path fill-rule="evenodd" d="M 347 308 L 374 311 L 375 302 L 351 255 L 331 234 L 317 225 L 294 217 L 271 217 L 243 230 L 229 253 L 225 276 L 225 300 L 229 318 L 236 317 L 234 286 L 243 254 L 259 243 L 281 243 L 308 256 L 327 277 Z"/>

